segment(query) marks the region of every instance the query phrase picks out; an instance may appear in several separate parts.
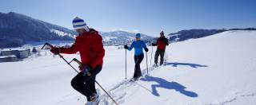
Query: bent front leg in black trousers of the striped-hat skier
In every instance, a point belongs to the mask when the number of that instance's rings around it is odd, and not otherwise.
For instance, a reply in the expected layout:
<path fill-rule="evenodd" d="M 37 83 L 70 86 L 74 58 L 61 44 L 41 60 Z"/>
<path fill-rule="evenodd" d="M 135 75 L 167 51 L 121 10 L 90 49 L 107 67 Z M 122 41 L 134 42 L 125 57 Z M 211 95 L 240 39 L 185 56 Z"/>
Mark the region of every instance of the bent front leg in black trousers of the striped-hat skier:
<path fill-rule="evenodd" d="M 86 87 L 85 84 L 85 80 L 88 80 L 90 77 L 83 75 L 83 72 L 79 72 L 77 76 L 74 76 L 74 78 L 71 80 L 71 86 L 90 100 L 90 95 L 92 95 L 93 93 L 90 91 L 90 88 Z"/>

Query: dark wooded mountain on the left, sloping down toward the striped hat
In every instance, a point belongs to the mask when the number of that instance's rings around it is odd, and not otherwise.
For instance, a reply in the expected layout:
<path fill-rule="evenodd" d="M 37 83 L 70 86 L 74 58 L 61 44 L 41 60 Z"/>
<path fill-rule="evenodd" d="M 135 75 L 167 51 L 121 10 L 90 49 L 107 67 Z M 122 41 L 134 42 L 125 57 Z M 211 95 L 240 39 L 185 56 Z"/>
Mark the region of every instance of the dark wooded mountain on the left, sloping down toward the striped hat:
<path fill-rule="evenodd" d="M 0 48 L 18 47 L 27 42 L 70 41 L 76 32 L 23 14 L 0 13 Z"/>

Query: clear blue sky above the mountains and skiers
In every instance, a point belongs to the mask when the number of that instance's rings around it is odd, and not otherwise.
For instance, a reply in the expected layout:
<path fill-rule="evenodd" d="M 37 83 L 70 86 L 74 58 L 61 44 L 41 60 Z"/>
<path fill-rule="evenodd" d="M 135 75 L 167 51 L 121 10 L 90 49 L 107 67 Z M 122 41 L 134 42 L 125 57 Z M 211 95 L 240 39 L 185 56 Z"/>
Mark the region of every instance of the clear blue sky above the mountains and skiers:
<path fill-rule="evenodd" d="M 1 0 L 14 11 L 72 29 L 75 16 L 101 31 L 158 36 L 161 30 L 256 27 L 256 0 Z"/>

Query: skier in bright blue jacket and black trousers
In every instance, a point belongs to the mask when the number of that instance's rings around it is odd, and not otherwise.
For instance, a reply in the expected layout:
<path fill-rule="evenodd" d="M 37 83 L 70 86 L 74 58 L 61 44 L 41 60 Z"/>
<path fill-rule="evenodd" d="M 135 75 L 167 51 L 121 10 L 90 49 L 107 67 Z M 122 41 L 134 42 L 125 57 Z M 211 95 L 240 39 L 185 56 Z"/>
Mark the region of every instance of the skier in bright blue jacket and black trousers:
<path fill-rule="evenodd" d="M 129 51 L 134 48 L 134 61 L 135 61 L 135 68 L 134 68 L 134 80 L 138 80 L 140 76 L 142 76 L 142 71 L 140 68 L 140 64 L 142 63 L 142 60 L 144 58 L 143 49 L 148 52 L 149 49 L 146 48 L 146 44 L 144 41 L 141 41 L 141 34 L 137 33 L 135 37 L 136 41 L 133 41 L 133 43 L 128 47 L 127 45 L 124 45 L 125 49 L 128 49 Z"/>

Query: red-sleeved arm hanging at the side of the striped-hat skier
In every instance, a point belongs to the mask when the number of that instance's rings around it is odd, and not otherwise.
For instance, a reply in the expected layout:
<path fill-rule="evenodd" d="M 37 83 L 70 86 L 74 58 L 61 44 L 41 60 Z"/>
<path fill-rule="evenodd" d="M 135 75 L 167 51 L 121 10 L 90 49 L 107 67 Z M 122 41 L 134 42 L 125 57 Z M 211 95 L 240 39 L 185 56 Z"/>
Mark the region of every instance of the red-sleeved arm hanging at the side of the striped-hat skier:
<path fill-rule="evenodd" d="M 100 35 L 96 36 L 97 37 L 95 37 L 95 41 L 92 47 L 94 53 L 96 54 L 96 57 L 91 62 L 92 68 L 95 68 L 97 64 L 99 64 L 105 56 L 105 49 L 103 48 L 102 37 Z"/>

